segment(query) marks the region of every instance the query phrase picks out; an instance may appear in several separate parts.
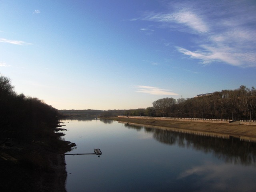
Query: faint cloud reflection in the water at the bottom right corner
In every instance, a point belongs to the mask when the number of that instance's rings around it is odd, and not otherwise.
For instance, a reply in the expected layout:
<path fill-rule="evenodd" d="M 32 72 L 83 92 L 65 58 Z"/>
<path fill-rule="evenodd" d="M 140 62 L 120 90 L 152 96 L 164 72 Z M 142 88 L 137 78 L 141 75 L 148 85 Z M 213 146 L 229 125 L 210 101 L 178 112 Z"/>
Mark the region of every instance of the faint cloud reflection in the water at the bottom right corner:
<path fill-rule="evenodd" d="M 190 178 L 197 178 L 191 183 L 191 188 L 197 188 L 195 191 L 253 192 L 256 188 L 254 175 L 255 170 L 249 166 L 206 162 L 181 172 L 178 179 L 186 182 Z"/>

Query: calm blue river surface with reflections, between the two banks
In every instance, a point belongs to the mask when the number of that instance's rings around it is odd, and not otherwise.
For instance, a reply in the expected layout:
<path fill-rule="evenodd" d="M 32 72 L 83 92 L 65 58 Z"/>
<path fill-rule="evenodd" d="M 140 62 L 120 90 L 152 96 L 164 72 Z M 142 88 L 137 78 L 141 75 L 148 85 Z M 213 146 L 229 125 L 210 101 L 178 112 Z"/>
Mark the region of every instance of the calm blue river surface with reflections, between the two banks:
<path fill-rule="evenodd" d="M 255 192 L 256 145 L 112 120 L 64 120 L 68 192 Z"/>

